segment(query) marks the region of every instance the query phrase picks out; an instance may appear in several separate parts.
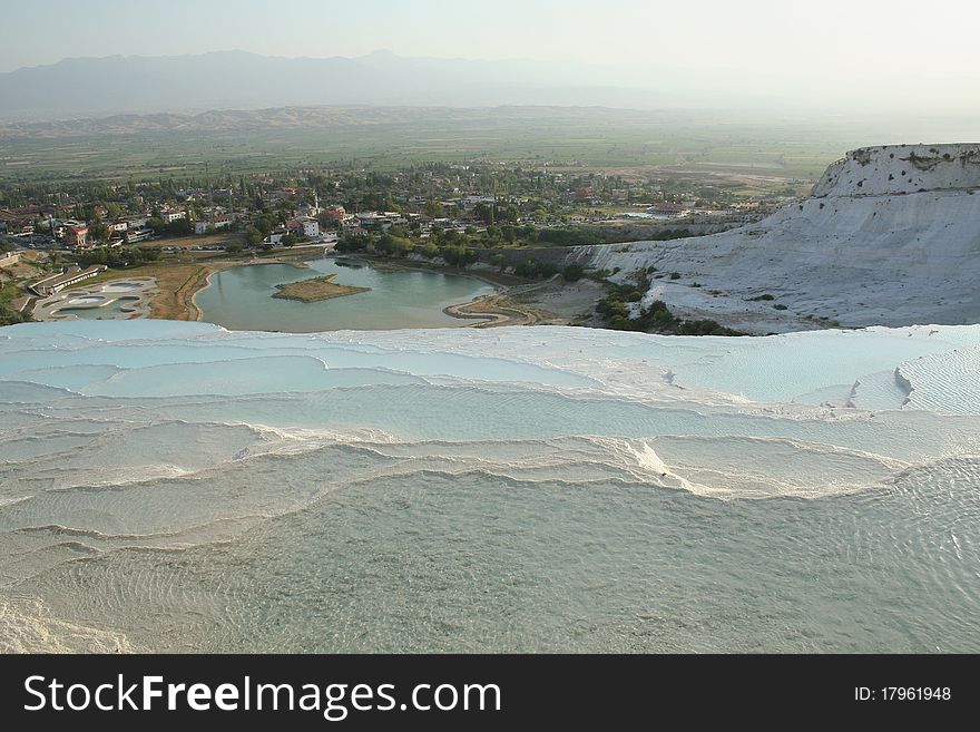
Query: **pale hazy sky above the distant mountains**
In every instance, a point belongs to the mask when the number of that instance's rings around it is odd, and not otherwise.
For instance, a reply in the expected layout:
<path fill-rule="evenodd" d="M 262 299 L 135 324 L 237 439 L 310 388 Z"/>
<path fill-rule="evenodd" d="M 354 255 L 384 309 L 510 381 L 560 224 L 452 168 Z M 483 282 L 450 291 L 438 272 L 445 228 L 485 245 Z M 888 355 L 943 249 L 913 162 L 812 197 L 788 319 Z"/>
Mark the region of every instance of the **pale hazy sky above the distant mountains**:
<path fill-rule="evenodd" d="M 980 109 L 967 0 L 46 0 L 7 2 L 0 71 L 67 56 L 532 58 L 746 92 Z"/>

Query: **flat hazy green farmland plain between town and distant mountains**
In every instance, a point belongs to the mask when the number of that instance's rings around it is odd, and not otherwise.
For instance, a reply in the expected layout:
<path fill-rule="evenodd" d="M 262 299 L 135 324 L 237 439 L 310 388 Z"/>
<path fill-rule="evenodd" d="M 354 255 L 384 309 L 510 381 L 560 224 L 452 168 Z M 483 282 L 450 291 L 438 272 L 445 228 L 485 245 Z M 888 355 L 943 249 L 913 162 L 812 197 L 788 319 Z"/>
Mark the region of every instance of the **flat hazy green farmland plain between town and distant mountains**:
<path fill-rule="evenodd" d="M 389 110 L 390 111 L 390 110 Z M 77 131 L 0 128 L 0 182 L 237 175 L 352 163 L 396 169 L 421 162 L 487 160 L 556 169 L 677 169 L 813 180 L 846 149 L 853 126 L 723 123 L 710 116 L 590 108 L 363 110 L 323 125 L 140 129 L 80 124 Z"/>

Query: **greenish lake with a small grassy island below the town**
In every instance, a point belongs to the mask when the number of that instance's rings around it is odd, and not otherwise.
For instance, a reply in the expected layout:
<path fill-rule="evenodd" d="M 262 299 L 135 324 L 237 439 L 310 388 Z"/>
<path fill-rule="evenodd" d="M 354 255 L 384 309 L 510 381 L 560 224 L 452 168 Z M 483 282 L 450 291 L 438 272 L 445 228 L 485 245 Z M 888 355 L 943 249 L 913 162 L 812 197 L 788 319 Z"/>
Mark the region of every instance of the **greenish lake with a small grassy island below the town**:
<path fill-rule="evenodd" d="M 469 302 L 496 291 L 474 277 L 441 272 L 378 270 L 362 260 L 331 257 L 290 264 L 255 264 L 216 272 L 197 293 L 202 319 L 228 330 L 312 333 L 336 330 L 392 330 L 401 328 L 459 328 L 473 321 L 452 318 L 443 308 Z M 320 302 L 274 299 L 276 285 L 336 274 L 337 284 L 371 287 Z"/>

